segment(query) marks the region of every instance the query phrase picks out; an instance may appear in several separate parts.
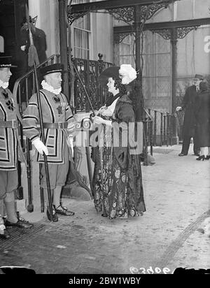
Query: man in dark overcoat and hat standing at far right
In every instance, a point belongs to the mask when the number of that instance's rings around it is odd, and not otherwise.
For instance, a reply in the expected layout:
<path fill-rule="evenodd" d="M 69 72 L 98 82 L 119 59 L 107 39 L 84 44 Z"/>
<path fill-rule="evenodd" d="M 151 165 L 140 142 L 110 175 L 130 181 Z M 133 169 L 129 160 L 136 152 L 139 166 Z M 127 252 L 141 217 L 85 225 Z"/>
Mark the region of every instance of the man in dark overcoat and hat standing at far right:
<path fill-rule="evenodd" d="M 183 144 L 182 150 L 179 156 L 186 156 L 190 147 L 190 139 L 193 137 L 193 151 L 195 155 L 199 155 L 200 147 L 198 145 L 198 139 L 196 135 L 196 121 L 195 121 L 195 99 L 197 92 L 199 91 L 200 82 L 204 80 L 204 77 L 200 74 L 196 74 L 193 79 L 193 85 L 186 89 L 186 94 L 183 97 L 181 106 L 176 107 L 176 111 L 185 109 L 185 115 L 183 120 Z"/>

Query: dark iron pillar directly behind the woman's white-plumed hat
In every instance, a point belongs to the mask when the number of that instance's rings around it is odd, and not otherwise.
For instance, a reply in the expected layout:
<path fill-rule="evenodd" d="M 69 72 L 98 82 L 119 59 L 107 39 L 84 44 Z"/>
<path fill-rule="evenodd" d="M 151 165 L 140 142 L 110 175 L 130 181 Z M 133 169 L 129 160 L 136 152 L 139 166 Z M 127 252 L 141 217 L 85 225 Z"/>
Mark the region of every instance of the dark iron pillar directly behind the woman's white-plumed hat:
<path fill-rule="evenodd" d="M 142 71 L 141 71 L 141 6 L 134 7 L 134 24 L 135 24 L 135 54 L 137 74 L 137 110 L 136 120 L 143 120 L 144 117 L 144 97 L 142 92 Z"/>

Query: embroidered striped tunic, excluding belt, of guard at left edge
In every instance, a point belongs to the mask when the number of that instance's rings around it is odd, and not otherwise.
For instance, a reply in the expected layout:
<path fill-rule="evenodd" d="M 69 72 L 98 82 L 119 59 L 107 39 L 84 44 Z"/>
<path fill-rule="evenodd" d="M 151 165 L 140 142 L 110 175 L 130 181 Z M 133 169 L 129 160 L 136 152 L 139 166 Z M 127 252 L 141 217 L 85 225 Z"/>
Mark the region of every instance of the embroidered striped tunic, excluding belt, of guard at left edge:
<path fill-rule="evenodd" d="M 0 122 L 17 120 L 13 94 L 0 87 Z M 0 171 L 17 169 L 18 143 L 12 128 L 0 127 Z"/>

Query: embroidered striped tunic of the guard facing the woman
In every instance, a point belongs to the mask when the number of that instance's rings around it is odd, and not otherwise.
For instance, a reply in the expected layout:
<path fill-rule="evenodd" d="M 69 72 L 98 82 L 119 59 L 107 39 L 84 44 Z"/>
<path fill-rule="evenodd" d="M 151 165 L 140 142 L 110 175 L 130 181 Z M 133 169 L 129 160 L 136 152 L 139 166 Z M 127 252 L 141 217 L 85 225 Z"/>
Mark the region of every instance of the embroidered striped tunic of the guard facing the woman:
<path fill-rule="evenodd" d="M 55 95 L 46 89 L 40 90 L 43 123 L 73 122 L 74 118 L 66 96 L 60 93 Z M 29 105 L 23 116 L 23 133 L 31 141 L 40 137 L 40 124 L 36 94 L 31 96 Z M 48 163 L 64 164 L 64 145 L 67 141 L 67 129 L 44 129 L 45 145 L 48 147 Z M 69 149 L 69 160 L 72 159 Z M 43 162 L 43 156 L 37 153 L 37 161 Z"/>

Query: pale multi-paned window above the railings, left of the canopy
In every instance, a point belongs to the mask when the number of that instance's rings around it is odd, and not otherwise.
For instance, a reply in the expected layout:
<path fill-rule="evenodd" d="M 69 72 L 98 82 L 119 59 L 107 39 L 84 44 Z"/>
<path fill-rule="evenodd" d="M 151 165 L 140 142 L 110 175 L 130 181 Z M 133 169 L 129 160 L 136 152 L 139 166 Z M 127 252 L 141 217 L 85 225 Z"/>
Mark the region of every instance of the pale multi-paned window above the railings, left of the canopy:
<path fill-rule="evenodd" d="M 74 0 L 73 3 L 87 3 L 90 0 Z M 73 56 L 90 59 L 90 13 L 73 22 Z"/>

